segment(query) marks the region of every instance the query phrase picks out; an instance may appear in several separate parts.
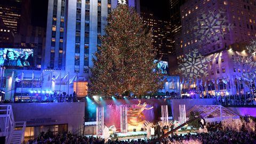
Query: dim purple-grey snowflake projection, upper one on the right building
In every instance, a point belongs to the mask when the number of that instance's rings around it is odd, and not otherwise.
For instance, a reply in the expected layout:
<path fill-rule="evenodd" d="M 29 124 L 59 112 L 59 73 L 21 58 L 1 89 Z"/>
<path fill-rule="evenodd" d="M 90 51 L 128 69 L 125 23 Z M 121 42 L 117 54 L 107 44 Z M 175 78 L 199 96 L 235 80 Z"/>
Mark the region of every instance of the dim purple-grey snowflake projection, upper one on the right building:
<path fill-rule="evenodd" d="M 201 13 L 196 20 L 194 27 L 196 39 L 199 43 L 213 43 L 220 41 L 227 31 L 232 28 L 226 19 L 223 10 L 209 11 Z"/>

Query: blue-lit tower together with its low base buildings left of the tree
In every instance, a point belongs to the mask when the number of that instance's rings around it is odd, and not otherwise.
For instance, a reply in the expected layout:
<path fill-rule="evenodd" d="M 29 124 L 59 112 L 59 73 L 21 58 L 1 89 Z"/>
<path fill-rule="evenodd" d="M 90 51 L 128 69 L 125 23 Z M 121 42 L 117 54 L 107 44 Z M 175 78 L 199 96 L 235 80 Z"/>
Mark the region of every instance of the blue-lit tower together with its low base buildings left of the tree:
<path fill-rule="evenodd" d="M 140 12 L 139 0 L 126 3 Z M 100 45 L 98 35 L 104 35 L 108 14 L 117 5 L 117 0 L 49 0 L 41 59 L 29 67 L 6 67 L 1 84 L 4 99 L 31 99 L 74 91 L 77 97 L 85 97 L 92 58 Z M 20 44 L 17 48 L 23 49 Z M 21 75 L 23 81 L 18 82 Z"/>

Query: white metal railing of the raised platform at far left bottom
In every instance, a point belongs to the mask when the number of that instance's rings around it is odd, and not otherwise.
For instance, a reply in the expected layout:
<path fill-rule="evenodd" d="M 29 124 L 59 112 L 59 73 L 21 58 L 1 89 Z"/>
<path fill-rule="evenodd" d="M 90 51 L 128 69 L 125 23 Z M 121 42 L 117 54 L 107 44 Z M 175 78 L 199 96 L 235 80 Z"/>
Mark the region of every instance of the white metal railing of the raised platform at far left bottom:
<path fill-rule="evenodd" d="M 2 130 L 2 132 L 0 132 L 0 135 L 5 137 L 5 143 L 10 143 L 15 125 L 12 106 L 0 105 L 0 117 L 2 117 L 4 121 L 4 129 Z"/>

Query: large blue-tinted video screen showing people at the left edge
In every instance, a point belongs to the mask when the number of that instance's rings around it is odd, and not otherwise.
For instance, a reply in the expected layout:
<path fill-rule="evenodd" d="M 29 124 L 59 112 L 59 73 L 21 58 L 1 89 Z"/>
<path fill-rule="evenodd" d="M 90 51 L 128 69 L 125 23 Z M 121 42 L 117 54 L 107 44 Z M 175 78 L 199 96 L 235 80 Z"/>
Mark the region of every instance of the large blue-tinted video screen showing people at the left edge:
<path fill-rule="evenodd" d="M 0 66 L 34 66 L 33 49 L 0 48 Z"/>

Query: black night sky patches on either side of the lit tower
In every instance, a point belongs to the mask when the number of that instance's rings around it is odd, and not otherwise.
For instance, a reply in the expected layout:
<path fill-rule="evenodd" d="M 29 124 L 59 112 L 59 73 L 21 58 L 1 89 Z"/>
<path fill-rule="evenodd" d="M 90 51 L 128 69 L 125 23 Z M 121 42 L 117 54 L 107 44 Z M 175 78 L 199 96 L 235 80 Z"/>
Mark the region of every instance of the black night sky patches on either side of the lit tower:
<path fill-rule="evenodd" d="M 170 20 L 169 0 L 141 0 L 140 6 L 154 13 L 155 17 Z M 48 0 L 31 1 L 31 23 L 46 28 Z"/>

